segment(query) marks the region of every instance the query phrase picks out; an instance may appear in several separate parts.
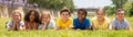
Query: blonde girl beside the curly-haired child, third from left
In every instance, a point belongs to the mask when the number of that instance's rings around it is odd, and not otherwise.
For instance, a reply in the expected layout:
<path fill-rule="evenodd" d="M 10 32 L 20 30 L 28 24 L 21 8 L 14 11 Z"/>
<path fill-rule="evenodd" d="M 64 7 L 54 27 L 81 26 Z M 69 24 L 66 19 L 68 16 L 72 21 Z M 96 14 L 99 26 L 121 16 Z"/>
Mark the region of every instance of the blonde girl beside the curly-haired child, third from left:
<path fill-rule="evenodd" d="M 50 12 L 43 12 L 41 15 L 41 24 L 39 24 L 39 29 L 55 29 L 55 22 L 51 17 Z"/>

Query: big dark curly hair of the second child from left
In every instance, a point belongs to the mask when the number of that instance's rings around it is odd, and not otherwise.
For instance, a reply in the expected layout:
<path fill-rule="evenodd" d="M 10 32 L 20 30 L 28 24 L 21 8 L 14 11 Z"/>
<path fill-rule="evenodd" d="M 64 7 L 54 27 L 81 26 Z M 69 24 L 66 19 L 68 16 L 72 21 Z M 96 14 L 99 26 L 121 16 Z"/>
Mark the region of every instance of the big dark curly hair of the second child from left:
<path fill-rule="evenodd" d="M 24 15 L 24 21 L 27 21 L 27 22 L 30 22 L 30 15 L 31 15 L 31 12 L 34 12 L 34 22 L 35 23 L 39 23 L 39 12 L 38 11 L 35 11 L 35 10 L 30 10 L 25 15 Z"/>

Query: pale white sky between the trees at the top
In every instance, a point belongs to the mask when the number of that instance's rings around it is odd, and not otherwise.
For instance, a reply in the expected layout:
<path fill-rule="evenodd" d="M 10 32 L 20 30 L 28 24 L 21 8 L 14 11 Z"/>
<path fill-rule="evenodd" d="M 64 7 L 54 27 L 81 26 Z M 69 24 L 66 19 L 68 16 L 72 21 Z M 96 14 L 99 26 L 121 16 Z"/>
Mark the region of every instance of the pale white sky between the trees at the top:
<path fill-rule="evenodd" d="M 103 8 L 111 5 L 111 0 L 73 0 L 75 9 L 80 8 Z"/>

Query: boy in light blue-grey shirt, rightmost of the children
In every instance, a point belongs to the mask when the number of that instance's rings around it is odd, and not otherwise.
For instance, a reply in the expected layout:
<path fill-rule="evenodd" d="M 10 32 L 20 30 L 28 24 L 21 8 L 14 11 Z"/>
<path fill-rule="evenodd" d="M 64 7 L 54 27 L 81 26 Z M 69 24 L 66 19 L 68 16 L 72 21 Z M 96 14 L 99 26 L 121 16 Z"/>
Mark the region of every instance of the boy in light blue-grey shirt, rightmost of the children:
<path fill-rule="evenodd" d="M 119 30 L 119 29 L 127 29 L 131 30 L 129 22 L 124 18 L 124 10 L 117 9 L 115 12 L 115 17 L 112 22 L 112 29 Z"/>

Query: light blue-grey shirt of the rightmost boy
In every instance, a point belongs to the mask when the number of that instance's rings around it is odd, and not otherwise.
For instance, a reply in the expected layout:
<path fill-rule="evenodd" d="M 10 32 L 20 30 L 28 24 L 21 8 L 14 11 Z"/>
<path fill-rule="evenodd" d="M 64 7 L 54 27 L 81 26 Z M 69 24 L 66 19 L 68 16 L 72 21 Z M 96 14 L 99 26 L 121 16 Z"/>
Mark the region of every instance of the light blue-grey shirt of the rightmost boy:
<path fill-rule="evenodd" d="M 111 25 L 114 26 L 116 30 L 117 29 L 127 29 L 130 27 L 126 20 L 119 22 L 117 18 L 114 18 Z"/>

